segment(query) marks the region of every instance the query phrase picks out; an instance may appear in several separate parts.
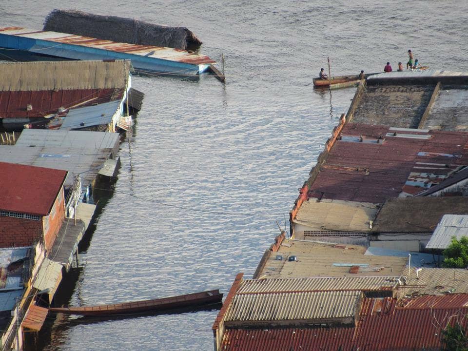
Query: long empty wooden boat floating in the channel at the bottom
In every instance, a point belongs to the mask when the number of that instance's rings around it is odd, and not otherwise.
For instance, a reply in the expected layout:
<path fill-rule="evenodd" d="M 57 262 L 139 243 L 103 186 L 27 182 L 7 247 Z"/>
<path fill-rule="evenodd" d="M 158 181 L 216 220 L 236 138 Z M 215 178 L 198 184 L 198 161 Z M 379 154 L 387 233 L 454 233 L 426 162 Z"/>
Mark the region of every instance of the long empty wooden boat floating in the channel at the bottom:
<path fill-rule="evenodd" d="M 197 307 L 221 302 L 223 294 L 219 290 L 195 292 L 186 295 L 163 297 L 153 300 L 124 302 L 113 305 L 83 307 L 51 307 L 51 312 L 78 314 L 84 316 L 107 316 L 118 314 L 158 312 L 188 307 Z"/>

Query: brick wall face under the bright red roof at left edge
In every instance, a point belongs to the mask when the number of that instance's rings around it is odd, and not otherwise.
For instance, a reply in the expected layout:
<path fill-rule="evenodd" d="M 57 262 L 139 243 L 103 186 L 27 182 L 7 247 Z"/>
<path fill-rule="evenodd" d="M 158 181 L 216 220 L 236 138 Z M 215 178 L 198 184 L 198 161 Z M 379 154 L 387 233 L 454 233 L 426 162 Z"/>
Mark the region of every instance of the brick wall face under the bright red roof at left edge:
<path fill-rule="evenodd" d="M 41 234 L 41 221 L 0 216 L 0 247 L 30 246 Z"/>

